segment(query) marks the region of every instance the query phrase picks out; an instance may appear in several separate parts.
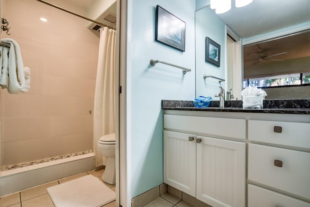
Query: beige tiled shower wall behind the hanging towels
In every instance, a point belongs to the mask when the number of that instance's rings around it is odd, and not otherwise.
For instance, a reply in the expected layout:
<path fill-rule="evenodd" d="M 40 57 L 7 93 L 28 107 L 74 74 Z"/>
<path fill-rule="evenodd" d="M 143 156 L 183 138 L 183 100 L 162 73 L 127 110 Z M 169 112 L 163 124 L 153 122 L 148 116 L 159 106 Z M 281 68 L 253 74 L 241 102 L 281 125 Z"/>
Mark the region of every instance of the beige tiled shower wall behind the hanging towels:
<path fill-rule="evenodd" d="M 31 68 L 29 92 L 0 91 L 2 166 L 93 149 L 98 34 L 36 0 L 2 0 L 1 16 L 11 27 L 1 38 L 16 40 Z"/>

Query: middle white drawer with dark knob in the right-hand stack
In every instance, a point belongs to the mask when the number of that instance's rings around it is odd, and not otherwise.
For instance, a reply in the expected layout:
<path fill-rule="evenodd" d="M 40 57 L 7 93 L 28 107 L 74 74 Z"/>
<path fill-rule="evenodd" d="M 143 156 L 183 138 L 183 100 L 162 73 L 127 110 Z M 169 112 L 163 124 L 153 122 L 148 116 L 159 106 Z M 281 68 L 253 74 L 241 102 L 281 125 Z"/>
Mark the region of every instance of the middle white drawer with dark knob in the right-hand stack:
<path fill-rule="evenodd" d="M 282 162 L 275 163 L 275 160 Z M 278 165 L 278 166 L 276 166 Z M 248 144 L 248 180 L 310 200 L 310 153 Z"/>

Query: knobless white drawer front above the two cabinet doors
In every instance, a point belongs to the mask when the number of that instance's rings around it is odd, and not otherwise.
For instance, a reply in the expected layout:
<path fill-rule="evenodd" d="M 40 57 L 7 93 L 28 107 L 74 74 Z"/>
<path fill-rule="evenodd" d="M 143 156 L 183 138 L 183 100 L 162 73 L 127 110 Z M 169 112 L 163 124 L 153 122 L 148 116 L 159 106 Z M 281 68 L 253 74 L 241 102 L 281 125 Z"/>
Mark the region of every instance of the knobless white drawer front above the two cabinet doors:
<path fill-rule="evenodd" d="M 237 118 L 164 115 L 164 128 L 215 137 L 246 138 L 246 120 Z"/>

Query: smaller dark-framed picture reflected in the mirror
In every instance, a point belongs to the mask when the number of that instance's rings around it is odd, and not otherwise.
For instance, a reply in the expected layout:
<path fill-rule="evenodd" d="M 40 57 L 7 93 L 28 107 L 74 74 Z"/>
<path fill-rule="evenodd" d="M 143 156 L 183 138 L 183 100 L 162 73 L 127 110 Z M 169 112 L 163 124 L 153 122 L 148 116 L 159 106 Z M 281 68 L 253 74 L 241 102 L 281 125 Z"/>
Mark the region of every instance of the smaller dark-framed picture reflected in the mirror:
<path fill-rule="evenodd" d="M 221 57 L 221 46 L 211 40 L 210 38 L 205 38 L 205 61 L 219 67 Z"/>

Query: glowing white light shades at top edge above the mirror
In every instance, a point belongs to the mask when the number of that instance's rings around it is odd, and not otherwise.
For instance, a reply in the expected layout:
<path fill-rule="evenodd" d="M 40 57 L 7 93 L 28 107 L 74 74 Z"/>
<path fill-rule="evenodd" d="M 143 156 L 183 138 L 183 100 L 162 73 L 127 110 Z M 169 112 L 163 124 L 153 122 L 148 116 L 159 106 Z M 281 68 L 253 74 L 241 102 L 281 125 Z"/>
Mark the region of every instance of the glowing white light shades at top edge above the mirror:
<path fill-rule="evenodd" d="M 243 7 L 253 0 L 235 0 L 236 7 Z M 210 0 L 210 8 L 215 9 L 215 13 L 223 14 L 232 8 L 232 0 Z"/>

